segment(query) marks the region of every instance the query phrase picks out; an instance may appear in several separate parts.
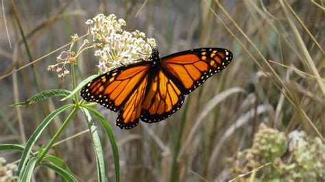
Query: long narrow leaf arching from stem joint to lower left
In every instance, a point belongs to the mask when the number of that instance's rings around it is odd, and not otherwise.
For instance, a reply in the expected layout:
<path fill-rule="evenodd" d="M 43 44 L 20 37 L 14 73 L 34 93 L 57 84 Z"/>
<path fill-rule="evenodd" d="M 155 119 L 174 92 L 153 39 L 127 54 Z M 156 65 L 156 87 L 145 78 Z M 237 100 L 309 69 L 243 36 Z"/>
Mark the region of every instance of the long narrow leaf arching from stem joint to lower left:
<path fill-rule="evenodd" d="M 32 148 L 33 148 L 35 142 L 39 138 L 40 134 L 45 130 L 47 125 L 49 125 L 49 122 L 51 122 L 51 120 L 55 116 L 57 116 L 64 110 L 69 109 L 70 107 L 73 107 L 73 106 L 74 106 L 73 104 L 69 104 L 69 105 L 62 106 L 59 109 L 56 109 L 54 112 L 49 114 L 49 116 L 47 116 L 45 118 L 45 120 L 43 120 L 43 122 L 40 123 L 40 125 L 37 127 L 37 129 L 34 131 L 32 136 L 28 139 L 28 141 L 26 143 L 25 149 L 23 151 L 23 155 L 21 156 L 21 161 L 19 162 L 17 176 L 22 177 L 23 172 L 25 170 L 26 163 L 28 161 L 28 156 L 32 153 Z"/>

